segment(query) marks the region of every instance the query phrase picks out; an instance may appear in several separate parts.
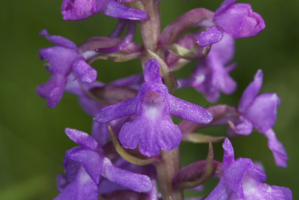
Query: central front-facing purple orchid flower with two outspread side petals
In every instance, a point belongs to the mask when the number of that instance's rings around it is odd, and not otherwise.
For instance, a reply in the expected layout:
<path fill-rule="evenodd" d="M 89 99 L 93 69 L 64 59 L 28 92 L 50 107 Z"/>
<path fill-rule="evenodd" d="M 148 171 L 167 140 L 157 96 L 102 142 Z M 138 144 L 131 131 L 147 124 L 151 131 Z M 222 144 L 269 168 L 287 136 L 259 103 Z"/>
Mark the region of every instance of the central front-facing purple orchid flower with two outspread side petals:
<path fill-rule="evenodd" d="M 162 84 L 159 68 L 158 61 L 147 61 L 145 82 L 140 86 L 138 95 L 105 107 L 95 118 L 105 123 L 136 114 L 134 121 L 123 125 L 119 139 L 129 149 L 135 149 L 139 144 L 139 150 L 145 156 L 153 156 L 161 149 L 169 151 L 179 145 L 181 131 L 173 124 L 169 114 L 203 124 L 212 120 L 212 115 L 204 108 L 170 95 Z"/>

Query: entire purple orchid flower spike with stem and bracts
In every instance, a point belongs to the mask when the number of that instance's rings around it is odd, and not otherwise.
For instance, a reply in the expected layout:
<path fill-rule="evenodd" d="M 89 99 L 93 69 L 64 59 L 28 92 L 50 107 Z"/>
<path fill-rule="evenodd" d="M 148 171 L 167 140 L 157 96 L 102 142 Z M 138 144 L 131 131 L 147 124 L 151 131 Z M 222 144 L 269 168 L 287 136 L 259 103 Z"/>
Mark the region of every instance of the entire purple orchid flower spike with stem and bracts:
<path fill-rule="evenodd" d="M 160 33 L 159 2 L 63 0 L 64 20 L 83 20 L 101 13 L 119 21 L 109 36 L 93 37 L 80 46 L 46 30 L 39 33 L 57 46 L 39 50 L 51 77 L 37 86 L 36 92 L 51 108 L 64 92 L 72 93 L 93 119 L 91 136 L 65 129 L 79 146 L 66 151 L 65 173 L 57 175 L 60 194 L 54 199 L 183 200 L 184 190 L 205 190 L 205 181 L 216 177 L 219 183 L 208 196 L 193 199 L 291 200 L 288 188 L 264 183 L 266 175 L 260 164 L 248 158 L 235 160 L 226 136 L 193 133 L 203 127 L 229 125 L 232 139 L 257 130 L 267 137 L 276 165 L 286 167 L 286 150 L 272 130 L 280 99 L 275 93 L 257 95 L 262 70 L 244 90 L 237 107 L 203 108 L 174 96 L 176 89 L 184 87 L 194 87 L 210 102 L 216 102 L 220 93 L 232 94 L 237 87 L 229 75 L 236 67 L 231 63 L 234 39 L 257 35 L 265 28 L 264 20 L 251 5 L 225 0 L 215 13 L 204 8 L 190 10 Z M 141 45 L 132 41 L 137 23 Z M 184 34 L 191 27 L 204 31 Z M 143 74 L 108 84 L 97 81 L 97 70 L 91 67 L 98 59 L 125 62 L 138 58 Z M 190 77 L 176 79 L 173 71 L 192 61 L 197 64 Z M 172 116 L 182 119 L 179 125 L 173 123 Z M 212 142 L 223 139 L 223 161 L 215 161 Z M 207 158 L 181 168 L 181 140 L 209 143 Z"/>

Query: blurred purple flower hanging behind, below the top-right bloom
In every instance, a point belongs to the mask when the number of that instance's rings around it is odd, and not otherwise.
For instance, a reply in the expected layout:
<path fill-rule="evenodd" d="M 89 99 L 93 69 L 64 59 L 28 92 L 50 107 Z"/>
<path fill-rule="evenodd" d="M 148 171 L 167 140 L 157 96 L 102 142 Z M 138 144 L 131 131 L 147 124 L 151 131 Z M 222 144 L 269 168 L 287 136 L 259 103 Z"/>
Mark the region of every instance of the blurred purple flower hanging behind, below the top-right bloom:
<path fill-rule="evenodd" d="M 234 56 L 234 39 L 224 33 L 223 39 L 211 47 L 210 52 L 195 68 L 192 76 L 179 79 L 178 87 L 194 87 L 202 92 L 208 101 L 215 102 L 220 97 L 220 92 L 231 94 L 236 90 L 236 82 L 229 76 L 229 72 L 236 67 L 225 65 Z"/>

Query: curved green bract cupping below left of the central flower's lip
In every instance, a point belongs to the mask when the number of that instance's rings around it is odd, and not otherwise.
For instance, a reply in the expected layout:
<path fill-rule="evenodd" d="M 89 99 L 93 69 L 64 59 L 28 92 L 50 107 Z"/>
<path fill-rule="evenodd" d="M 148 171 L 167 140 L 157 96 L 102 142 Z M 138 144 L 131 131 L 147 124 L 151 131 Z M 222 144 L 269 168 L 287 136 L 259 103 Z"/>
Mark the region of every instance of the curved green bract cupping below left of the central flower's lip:
<path fill-rule="evenodd" d="M 117 138 L 115 137 L 115 135 L 114 135 L 114 133 L 113 133 L 111 127 L 110 127 L 110 125 L 108 125 L 108 129 L 109 129 L 110 137 L 111 137 L 112 143 L 115 147 L 115 150 L 126 161 L 128 161 L 132 164 L 136 164 L 136 165 L 153 164 L 153 163 L 158 161 L 158 159 L 156 157 L 150 157 L 148 159 L 140 159 L 140 158 L 137 158 L 135 156 L 132 156 L 131 154 L 126 152 L 126 150 L 119 144 Z"/>

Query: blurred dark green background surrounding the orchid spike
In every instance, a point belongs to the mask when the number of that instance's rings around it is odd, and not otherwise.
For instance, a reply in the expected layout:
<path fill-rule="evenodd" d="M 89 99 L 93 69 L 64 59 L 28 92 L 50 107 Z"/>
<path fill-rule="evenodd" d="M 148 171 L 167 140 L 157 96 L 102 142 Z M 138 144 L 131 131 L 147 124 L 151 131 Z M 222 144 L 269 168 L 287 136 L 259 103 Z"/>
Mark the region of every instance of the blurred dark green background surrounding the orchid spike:
<path fill-rule="evenodd" d="M 75 96 L 64 94 L 55 109 L 45 107 L 45 100 L 35 93 L 35 87 L 48 80 L 37 50 L 51 46 L 39 37 L 46 28 L 50 34 L 65 36 L 76 44 L 92 36 L 106 36 L 113 29 L 116 19 L 96 15 L 84 21 L 63 21 L 60 13 L 61 0 L 51 1 L 2 1 L 1 15 L 1 68 L 0 68 L 0 199 L 38 200 L 53 199 L 58 191 L 55 176 L 62 170 L 65 150 L 76 144 L 64 134 L 65 127 L 90 133 L 91 118 L 79 105 Z M 182 13 L 206 7 L 215 10 L 221 0 L 162 0 L 162 27 Z M 266 138 L 259 133 L 234 139 L 235 157 L 248 157 L 262 161 L 267 183 L 289 187 L 293 199 L 298 192 L 298 86 L 299 86 L 299 1 L 238 1 L 250 3 L 255 12 L 266 22 L 266 29 L 258 36 L 236 41 L 233 61 L 238 67 L 231 73 L 238 82 L 237 91 L 231 96 L 222 95 L 220 104 L 237 105 L 247 84 L 257 69 L 264 72 L 261 92 L 275 92 L 282 100 L 278 109 L 274 131 L 286 147 L 288 168 L 276 167 L 267 147 Z M 136 40 L 140 41 L 139 33 Z M 193 64 L 175 73 L 187 77 Z M 98 80 L 109 82 L 133 73 L 140 73 L 138 60 L 126 63 L 96 61 Z M 176 96 L 193 103 L 210 105 L 193 89 L 179 90 Z M 223 135 L 226 127 L 202 130 L 202 133 Z M 181 143 L 182 165 L 204 159 L 208 146 Z M 214 144 L 215 158 L 222 159 L 221 144 Z M 206 194 L 217 180 L 207 184 Z M 187 194 L 193 195 L 191 193 Z"/>

